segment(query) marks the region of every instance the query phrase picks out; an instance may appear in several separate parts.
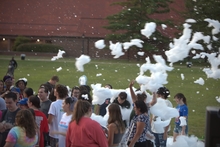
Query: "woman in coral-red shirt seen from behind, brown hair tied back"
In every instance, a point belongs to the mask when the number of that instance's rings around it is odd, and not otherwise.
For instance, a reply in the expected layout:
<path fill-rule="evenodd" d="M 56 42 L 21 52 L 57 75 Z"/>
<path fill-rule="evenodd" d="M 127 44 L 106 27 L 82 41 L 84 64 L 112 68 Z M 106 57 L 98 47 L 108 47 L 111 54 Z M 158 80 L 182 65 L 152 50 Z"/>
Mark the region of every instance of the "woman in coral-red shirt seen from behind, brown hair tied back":
<path fill-rule="evenodd" d="M 66 147 L 108 147 L 104 131 L 92 120 L 92 105 L 88 101 L 76 102 L 66 135 Z"/>

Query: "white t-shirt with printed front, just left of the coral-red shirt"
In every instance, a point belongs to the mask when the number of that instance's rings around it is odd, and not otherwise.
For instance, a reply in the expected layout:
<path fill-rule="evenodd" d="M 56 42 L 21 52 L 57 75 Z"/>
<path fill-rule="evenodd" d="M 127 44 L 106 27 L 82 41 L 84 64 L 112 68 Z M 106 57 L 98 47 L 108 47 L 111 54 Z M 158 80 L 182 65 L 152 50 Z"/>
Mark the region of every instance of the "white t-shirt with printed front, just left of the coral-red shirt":
<path fill-rule="evenodd" d="M 66 113 L 63 114 L 59 123 L 59 132 L 67 132 L 69 123 L 71 121 L 72 115 L 67 116 Z M 58 147 L 66 146 L 66 136 L 59 135 L 59 145 Z"/>

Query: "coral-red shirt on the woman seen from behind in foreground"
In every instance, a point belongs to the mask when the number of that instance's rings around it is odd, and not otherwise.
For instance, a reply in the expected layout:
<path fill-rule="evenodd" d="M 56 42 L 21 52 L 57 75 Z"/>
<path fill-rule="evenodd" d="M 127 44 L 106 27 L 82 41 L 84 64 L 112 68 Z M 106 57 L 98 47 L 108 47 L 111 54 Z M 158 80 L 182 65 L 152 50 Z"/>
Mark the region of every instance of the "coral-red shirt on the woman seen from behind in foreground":
<path fill-rule="evenodd" d="M 96 121 L 82 117 L 78 125 L 76 121 L 69 124 L 66 147 L 108 147 L 108 142 Z"/>

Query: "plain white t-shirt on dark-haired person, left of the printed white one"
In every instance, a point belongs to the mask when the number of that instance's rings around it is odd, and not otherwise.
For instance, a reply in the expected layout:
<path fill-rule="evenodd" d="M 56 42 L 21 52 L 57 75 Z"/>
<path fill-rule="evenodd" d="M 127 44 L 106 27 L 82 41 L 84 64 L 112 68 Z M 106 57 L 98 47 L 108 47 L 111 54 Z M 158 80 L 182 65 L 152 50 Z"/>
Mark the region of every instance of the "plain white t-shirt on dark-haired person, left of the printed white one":
<path fill-rule="evenodd" d="M 51 124 L 49 124 L 49 129 L 50 129 L 49 136 L 53 138 L 57 138 L 57 139 L 59 135 L 57 134 L 52 135 L 51 131 L 58 131 L 58 124 L 64 113 L 63 108 L 62 108 L 62 103 L 63 103 L 63 100 L 60 100 L 60 99 L 56 100 L 55 102 L 52 102 L 50 105 L 49 112 L 48 112 L 48 114 L 52 114 L 54 116 Z"/>

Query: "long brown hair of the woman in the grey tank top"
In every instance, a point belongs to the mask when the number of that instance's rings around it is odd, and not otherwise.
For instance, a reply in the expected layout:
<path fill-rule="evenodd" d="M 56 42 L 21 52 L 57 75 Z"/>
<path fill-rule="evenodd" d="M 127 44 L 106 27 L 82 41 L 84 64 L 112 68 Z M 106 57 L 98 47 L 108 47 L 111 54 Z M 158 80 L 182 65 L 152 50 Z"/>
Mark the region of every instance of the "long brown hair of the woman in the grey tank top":
<path fill-rule="evenodd" d="M 109 107 L 108 124 L 118 122 L 120 130 L 125 131 L 125 125 L 122 120 L 121 110 L 118 104 L 112 103 Z"/>

